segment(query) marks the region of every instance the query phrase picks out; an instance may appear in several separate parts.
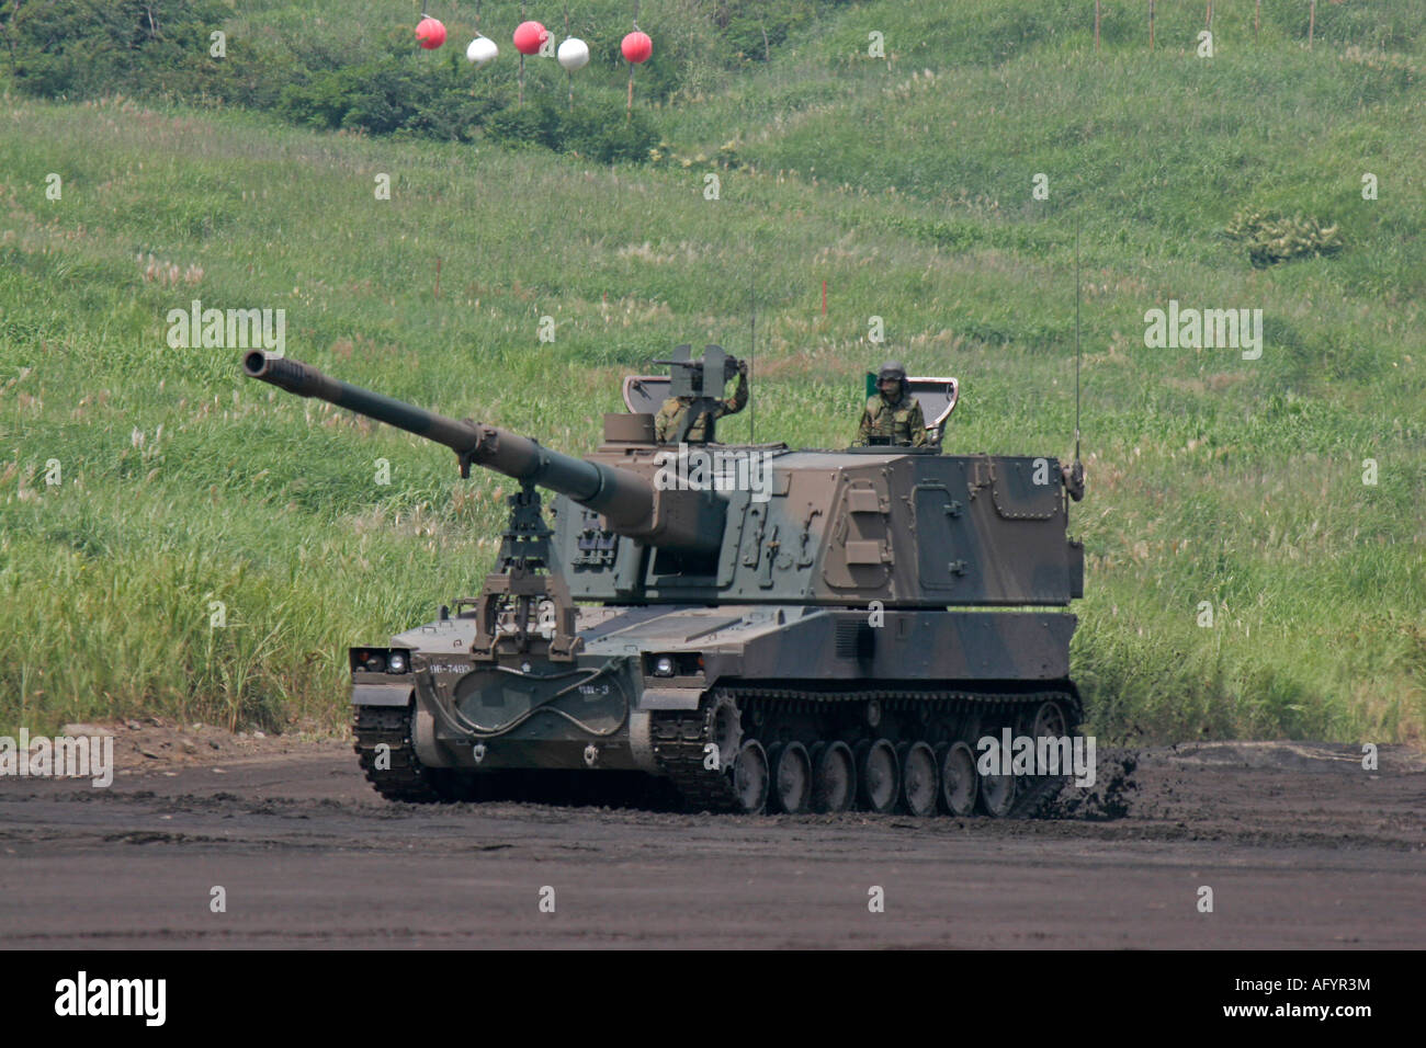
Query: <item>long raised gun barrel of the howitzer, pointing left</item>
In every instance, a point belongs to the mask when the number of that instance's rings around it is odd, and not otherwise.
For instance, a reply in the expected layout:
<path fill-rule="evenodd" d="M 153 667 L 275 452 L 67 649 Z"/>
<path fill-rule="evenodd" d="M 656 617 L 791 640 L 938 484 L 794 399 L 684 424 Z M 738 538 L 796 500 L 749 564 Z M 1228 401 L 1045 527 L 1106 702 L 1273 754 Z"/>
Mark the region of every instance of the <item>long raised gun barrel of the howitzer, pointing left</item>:
<path fill-rule="evenodd" d="M 538 442 L 499 426 L 468 422 L 424 411 L 404 401 L 341 382 L 317 368 L 285 356 L 254 349 L 242 358 L 248 378 L 271 382 L 298 396 L 315 396 L 358 415 L 405 429 L 443 443 L 461 459 L 461 475 L 469 463 L 486 466 L 525 483 L 566 495 L 582 506 L 605 515 L 609 526 L 650 545 L 684 549 L 716 548 L 720 535 L 703 529 L 660 522 L 653 485 L 637 473 L 597 462 L 585 462 L 540 446 Z M 672 526 L 670 526 L 672 525 Z"/>

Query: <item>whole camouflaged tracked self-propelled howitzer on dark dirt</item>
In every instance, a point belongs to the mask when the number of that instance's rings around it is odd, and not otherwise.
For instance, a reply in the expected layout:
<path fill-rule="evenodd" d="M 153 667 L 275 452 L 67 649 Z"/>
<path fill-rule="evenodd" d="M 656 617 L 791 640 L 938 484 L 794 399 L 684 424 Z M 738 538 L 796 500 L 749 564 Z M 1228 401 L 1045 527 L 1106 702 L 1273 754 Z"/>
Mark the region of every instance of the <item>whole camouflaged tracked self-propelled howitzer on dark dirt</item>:
<path fill-rule="evenodd" d="M 720 349 L 704 361 L 722 374 Z M 1005 774 L 1008 756 L 981 774 L 974 749 L 1068 744 L 1081 719 L 1061 609 L 1084 555 L 1052 456 L 657 445 L 629 412 L 576 459 L 297 361 L 244 369 L 522 483 L 479 597 L 351 649 L 384 796 L 603 800 L 620 781 L 710 810 L 1007 816 L 1062 786 Z"/>

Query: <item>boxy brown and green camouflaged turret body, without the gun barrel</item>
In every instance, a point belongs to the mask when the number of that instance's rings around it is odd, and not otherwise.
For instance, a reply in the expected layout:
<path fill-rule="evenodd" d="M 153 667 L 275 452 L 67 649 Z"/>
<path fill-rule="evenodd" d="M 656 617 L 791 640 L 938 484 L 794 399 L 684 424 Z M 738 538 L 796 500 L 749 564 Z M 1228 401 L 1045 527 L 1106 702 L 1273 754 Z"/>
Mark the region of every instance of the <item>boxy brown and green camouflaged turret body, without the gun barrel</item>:
<path fill-rule="evenodd" d="M 625 466 L 630 468 L 630 466 Z M 760 490 L 720 490 L 722 548 L 650 550 L 560 499 L 576 600 L 1064 606 L 1082 550 L 1054 458 L 790 452 Z"/>

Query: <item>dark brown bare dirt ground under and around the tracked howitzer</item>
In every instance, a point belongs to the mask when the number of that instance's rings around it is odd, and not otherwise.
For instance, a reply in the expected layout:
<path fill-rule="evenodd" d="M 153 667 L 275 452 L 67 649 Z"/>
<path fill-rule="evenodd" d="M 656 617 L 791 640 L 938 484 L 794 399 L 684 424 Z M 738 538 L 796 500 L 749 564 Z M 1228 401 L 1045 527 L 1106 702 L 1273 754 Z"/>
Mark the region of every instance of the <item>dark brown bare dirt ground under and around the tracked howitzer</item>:
<path fill-rule="evenodd" d="M 3 947 L 1426 945 L 1405 747 L 1101 750 L 1062 817 L 992 821 L 415 807 L 344 741 L 97 727 L 110 788 L 0 779 Z"/>

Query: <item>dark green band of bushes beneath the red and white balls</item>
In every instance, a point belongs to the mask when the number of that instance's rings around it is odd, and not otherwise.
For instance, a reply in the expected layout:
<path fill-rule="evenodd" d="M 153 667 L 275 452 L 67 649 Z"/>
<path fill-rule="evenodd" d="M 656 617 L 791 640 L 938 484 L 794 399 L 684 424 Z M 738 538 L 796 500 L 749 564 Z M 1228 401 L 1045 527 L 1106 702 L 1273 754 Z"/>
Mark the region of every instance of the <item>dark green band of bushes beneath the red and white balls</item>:
<path fill-rule="evenodd" d="M 508 81 L 472 80 L 456 51 L 446 61 L 415 54 L 405 31 L 394 30 L 349 64 L 321 48 L 297 61 L 251 38 L 212 60 L 208 34 L 230 17 L 231 6 L 220 0 L 21 0 L 0 11 L 0 29 L 16 86 L 47 98 L 121 91 L 225 101 L 328 131 L 443 141 L 483 131 L 602 164 L 646 163 L 659 140 L 647 115 L 636 111 L 629 120 L 622 106 L 516 107 Z M 617 51 L 617 40 L 609 47 Z"/>

